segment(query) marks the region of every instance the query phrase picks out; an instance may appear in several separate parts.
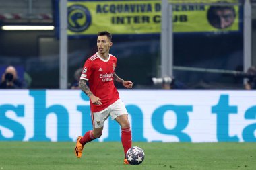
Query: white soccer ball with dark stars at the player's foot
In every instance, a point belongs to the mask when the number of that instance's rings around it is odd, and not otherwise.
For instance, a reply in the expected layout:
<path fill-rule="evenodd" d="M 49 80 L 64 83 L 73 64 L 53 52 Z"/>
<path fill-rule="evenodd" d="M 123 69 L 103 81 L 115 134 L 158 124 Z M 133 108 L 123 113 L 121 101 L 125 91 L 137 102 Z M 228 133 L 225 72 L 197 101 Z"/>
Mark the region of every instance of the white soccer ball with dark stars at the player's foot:
<path fill-rule="evenodd" d="M 129 150 L 125 154 L 125 158 L 131 165 L 139 165 L 143 162 L 145 158 L 145 153 L 142 148 L 133 146 L 129 148 Z"/>

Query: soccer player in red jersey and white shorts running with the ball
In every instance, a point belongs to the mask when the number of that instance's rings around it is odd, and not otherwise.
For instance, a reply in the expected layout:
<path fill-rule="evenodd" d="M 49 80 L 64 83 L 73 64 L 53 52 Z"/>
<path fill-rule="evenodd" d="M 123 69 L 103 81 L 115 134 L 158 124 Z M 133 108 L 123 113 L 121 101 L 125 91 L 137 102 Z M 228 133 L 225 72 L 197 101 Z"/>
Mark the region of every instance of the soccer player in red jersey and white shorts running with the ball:
<path fill-rule="evenodd" d="M 124 81 L 115 73 L 117 58 L 109 54 L 110 47 L 113 45 L 111 39 L 112 36 L 109 32 L 98 33 L 98 52 L 86 60 L 80 77 L 80 88 L 90 97 L 93 129 L 86 132 L 84 136 L 78 136 L 75 146 L 77 158 L 82 157 L 86 143 L 100 138 L 104 121 L 107 120 L 108 116 L 111 116 L 112 120 L 116 120 L 121 126 L 121 142 L 124 153 L 131 148 L 131 128 L 128 113 L 124 103 L 119 99 L 114 81 L 123 84 L 128 89 L 133 87 L 133 83 Z M 124 164 L 129 164 L 127 159 L 124 160 Z"/>

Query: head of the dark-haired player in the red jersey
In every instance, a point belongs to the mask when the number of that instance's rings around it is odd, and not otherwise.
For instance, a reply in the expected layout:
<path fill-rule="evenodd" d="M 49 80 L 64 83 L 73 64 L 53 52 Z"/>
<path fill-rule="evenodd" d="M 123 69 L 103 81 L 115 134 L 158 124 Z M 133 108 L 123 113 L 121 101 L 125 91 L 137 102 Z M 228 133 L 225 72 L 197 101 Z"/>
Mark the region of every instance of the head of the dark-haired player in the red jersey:
<path fill-rule="evenodd" d="M 112 42 L 110 42 L 108 36 L 98 36 L 97 46 L 100 54 L 108 54 L 110 46 L 112 46 Z"/>

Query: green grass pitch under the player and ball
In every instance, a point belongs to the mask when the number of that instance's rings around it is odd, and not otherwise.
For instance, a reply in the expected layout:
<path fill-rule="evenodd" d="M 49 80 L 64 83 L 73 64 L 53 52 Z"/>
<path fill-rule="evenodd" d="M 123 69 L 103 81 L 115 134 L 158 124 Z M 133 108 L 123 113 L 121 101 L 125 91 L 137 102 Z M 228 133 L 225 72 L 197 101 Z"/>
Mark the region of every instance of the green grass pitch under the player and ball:
<path fill-rule="evenodd" d="M 141 165 L 123 165 L 121 142 L 86 144 L 82 158 L 75 142 L 0 142 L 0 170 L 7 169 L 256 169 L 256 143 L 133 142 L 143 148 Z"/>

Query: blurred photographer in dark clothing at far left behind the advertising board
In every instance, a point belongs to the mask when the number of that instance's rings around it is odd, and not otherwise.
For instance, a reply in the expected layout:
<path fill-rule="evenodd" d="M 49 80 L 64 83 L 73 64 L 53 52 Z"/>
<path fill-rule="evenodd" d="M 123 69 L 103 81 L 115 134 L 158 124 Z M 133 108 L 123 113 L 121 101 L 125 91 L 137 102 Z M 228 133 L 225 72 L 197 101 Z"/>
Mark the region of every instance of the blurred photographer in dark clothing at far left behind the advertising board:
<path fill-rule="evenodd" d="M 26 84 L 18 78 L 15 67 L 9 66 L 5 69 L 1 78 L 0 89 L 25 89 Z"/>

